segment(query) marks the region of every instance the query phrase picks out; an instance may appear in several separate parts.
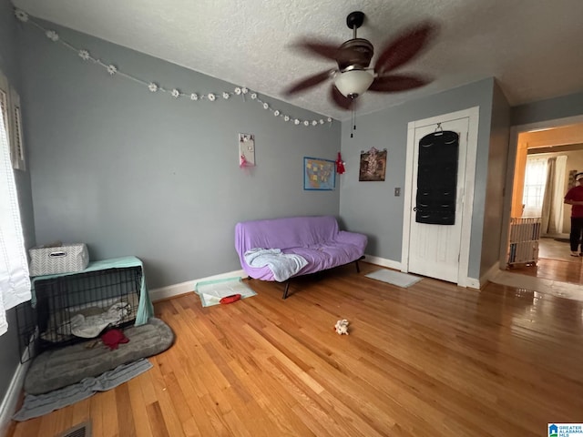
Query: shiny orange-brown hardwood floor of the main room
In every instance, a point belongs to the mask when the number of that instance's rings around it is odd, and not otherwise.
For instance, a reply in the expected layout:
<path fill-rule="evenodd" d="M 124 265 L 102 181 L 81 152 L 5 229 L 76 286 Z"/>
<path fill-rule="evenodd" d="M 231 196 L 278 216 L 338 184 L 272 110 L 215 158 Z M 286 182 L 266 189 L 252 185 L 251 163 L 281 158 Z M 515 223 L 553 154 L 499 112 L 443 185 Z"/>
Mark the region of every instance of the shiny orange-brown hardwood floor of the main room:
<path fill-rule="evenodd" d="M 583 422 L 583 303 L 424 279 L 401 289 L 362 263 L 321 278 L 249 281 L 258 295 L 156 304 L 176 332 L 150 371 L 15 426 L 52 437 L 540 436 Z M 348 336 L 333 330 L 350 321 Z"/>

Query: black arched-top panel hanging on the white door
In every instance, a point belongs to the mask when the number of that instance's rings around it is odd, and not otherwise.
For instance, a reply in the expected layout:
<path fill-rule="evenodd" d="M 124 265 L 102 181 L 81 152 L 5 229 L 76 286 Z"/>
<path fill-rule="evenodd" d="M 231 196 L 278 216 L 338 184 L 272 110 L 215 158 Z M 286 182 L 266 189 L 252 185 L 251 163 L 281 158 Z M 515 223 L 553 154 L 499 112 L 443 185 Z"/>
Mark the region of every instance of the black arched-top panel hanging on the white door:
<path fill-rule="evenodd" d="M 415 221 L 432 225 L 455 224 L 455 190 L 459 136 L 437 131 L 419 141 Z"/>

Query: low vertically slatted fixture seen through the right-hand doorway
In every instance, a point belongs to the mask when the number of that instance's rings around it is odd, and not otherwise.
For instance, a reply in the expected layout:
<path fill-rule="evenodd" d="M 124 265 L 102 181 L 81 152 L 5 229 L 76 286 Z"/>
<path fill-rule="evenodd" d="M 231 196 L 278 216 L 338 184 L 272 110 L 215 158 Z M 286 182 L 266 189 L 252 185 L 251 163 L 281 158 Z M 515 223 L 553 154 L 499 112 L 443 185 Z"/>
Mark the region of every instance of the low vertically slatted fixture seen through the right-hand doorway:
<path fill-rule="evenodd" d="M 540 226 L 539 217 L 510 219 L 508 265 L 537 263 Z"/>

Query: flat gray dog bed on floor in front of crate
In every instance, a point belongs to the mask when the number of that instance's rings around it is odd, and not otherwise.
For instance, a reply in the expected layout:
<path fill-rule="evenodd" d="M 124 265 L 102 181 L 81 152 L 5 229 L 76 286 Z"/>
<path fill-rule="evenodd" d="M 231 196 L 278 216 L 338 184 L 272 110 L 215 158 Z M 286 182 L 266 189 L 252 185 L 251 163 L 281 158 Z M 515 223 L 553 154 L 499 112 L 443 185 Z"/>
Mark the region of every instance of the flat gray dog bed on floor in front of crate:
<path fill-rule="evenodd" d="M 162 320 L 150 318 L 148 323 L 124 330 L 128 343 L 110 351 L 101 341 L 77 343 L 38 355 L 26 373 L 25 391 L 42 394 L 74 384 L 84 378 L 115 369 L 120 364 L 151 357 L 166 351 L 174 342 L 174 332 Z"/>

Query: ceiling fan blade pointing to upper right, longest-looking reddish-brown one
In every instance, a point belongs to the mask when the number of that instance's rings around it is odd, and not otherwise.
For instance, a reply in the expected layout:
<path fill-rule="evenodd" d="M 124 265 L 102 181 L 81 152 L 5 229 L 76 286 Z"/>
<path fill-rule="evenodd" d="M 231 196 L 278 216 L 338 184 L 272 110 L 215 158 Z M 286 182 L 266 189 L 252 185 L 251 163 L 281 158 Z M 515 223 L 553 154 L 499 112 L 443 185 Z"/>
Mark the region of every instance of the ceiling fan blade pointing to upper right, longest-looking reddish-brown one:
<path fill-rule="evenodd" d="M 437 25 L 425 22 L 404 31 L 385 46 L 374 66 L 374 72 L 382 74 L 411 61 L 435 36 Z"/>

